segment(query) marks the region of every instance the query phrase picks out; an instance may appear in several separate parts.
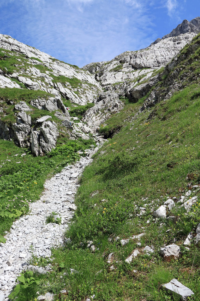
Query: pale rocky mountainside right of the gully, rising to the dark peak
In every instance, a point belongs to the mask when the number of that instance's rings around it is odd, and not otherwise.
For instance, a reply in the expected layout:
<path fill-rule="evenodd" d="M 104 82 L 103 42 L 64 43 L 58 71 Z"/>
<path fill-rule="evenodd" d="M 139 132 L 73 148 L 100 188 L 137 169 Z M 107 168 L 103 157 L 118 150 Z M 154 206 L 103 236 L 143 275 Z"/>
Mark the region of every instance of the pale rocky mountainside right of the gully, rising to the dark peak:
<path fill-rule="evenodd" d="M 83 67 L 95 75 L 104 92 L 84 116 L 84 121 L 95 131 L 109 116 L 109 108 L 120 110 L 127 97 L 136 102 L 145 96 L 157 82 L 160 73 L 172 58 L 200 30 L 200 17 L 184 20 L 169 35 L 157 39 L 148 48 L 126 51 L 108 62 L 91 63 Z"/>

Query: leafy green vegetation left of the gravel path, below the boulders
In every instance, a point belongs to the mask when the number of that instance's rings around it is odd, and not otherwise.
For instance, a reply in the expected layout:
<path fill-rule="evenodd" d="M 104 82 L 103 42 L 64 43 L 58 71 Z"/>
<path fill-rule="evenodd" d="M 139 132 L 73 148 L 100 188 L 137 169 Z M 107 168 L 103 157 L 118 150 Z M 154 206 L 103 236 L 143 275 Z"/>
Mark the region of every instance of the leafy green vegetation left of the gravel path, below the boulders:
<path fill-rule="evenodd" d="M 63 143 L 60 140 L 58 143 Z M 17 217 L 28 212 L 29 204 L 40 197 L 49 174 L 78 160 L 77 151 L 84 152 L 94 144 L 93 139 L 65 142 L 65 145 L 58 144 L 49 155 L 33 157 L 29 150 L 0 140 L 0 235 L 9 231 Z M 24 153 L 26 155 L 21 157 Z M 0 240 L 3 240 L 1 236 Z"/>

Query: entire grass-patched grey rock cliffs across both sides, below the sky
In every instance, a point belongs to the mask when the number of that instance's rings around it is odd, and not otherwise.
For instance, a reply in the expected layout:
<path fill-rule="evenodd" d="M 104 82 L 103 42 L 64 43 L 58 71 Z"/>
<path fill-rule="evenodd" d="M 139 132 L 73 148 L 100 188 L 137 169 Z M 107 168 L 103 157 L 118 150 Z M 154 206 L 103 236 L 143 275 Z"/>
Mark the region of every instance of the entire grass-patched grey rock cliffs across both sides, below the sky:
<path fill-rule="evenodd" d="M 169 68 L 175 64 L 181 49 L 199 30 L 200 17 L 184 20 L 148 48 L 126 51 L 83 69 L 0 35 L 0 137 L 31 147 L 37 156 L 54 148 L 61 135 L 89 139 L 90 133 L 123 108 L 124 98 L 136 102 L 148 95 L 166 76 L 164 67 L 174 57 Z M 144 108 L 159 101 L 154 93 Z M 88 103 L 94 106 L 82 120 L 70 117 L 66 107 Z"/>

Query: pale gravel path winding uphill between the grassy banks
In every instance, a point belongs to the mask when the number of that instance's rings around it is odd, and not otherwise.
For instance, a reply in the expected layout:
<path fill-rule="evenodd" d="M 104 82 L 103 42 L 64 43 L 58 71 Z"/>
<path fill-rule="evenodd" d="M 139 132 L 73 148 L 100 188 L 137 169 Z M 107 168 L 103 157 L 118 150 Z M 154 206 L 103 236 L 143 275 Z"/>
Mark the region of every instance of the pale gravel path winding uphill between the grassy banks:
<path fill-rule="evenodd" d="M 47 180 L 40 200 L 30 204 L 29 215 L 13 223 L 10 233 L 5 236 L 6 243 L 0 244 L 0 301 L 8 300 L 17 276 L 28 265 L 32 251 L 37 257 L 50 257 L 51 247 L 63 244 L 64 231 L 76 209 L 74 195 L 79 186 L 78 177 L 91 161 L 90 157 L 82 157 L 75 165 L 65 167 L 61 173 Z M 46 224 L 46 217 L 52 212 L 61 217 L 61 225 Z"/>

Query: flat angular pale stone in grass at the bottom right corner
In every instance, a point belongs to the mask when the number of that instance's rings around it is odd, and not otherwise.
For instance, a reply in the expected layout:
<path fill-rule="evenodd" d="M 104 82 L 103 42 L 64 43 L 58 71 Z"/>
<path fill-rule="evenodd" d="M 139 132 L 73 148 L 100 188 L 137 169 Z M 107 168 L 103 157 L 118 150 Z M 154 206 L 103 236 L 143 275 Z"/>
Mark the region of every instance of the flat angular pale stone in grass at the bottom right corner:
<path fill-rule="evenodd" d="M 163 284 L 162 287 L 168 293 L 172 294 L 172 296 L 175 294 L 181 298 L 182 301 L 186 301 L 189 297 L 194 295 L 192 290 L 181 284 L 181 282 L 176 279 L 172 279 L 169 283 Z"/>

